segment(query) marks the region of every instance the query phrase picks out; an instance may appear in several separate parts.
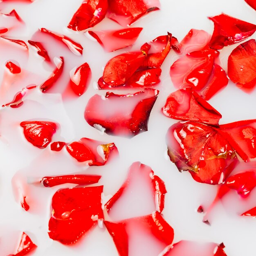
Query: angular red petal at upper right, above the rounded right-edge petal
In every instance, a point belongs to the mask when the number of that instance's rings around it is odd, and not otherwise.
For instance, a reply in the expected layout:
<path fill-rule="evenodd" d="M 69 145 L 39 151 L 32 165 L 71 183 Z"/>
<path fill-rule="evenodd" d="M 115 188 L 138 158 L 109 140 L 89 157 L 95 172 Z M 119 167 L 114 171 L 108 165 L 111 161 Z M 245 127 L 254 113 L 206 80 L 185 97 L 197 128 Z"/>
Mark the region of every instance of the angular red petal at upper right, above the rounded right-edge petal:
<path fill-rule="evenodd" d="M 222 49 L 225 46 L 245 40 L 256 31 L 256 25 L 222 13 L 209 17 L 214 22 L 214 31 L 209 46 Z"/>

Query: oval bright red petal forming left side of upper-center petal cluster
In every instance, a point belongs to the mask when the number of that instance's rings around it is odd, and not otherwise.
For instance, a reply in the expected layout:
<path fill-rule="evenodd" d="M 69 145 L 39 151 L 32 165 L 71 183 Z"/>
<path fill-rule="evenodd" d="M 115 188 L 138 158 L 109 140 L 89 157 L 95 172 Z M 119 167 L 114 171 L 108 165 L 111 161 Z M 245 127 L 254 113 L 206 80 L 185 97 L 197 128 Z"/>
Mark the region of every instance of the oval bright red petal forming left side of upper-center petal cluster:
<path fill-rule="evenodd" d="M 142 52 L 129 52 L 110 59 L 104 68 L 103 76 L 98 81 L 99 87 L 110 89 L 123 85 L 141 66 L 145 57 Z"/>

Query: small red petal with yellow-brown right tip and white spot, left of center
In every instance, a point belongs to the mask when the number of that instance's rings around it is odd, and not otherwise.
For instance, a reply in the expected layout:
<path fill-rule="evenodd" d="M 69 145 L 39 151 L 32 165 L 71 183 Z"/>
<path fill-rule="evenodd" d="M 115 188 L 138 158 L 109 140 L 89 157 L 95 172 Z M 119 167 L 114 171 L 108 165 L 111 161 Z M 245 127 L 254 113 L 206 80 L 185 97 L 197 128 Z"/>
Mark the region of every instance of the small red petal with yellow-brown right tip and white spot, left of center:
<path fill-rule="evenodd" d="M 118 154 L 117 147 L 114 143 L 104 144 L 102 141 L 94 139 L 81 138 L 66 146 L 67 152 L 70 153 L 78 162 L 87 162 L 89 166 L 101 166 L 106 164 L 109 157 Z M 103 156 L 99 155 L 99 150 Z"/>

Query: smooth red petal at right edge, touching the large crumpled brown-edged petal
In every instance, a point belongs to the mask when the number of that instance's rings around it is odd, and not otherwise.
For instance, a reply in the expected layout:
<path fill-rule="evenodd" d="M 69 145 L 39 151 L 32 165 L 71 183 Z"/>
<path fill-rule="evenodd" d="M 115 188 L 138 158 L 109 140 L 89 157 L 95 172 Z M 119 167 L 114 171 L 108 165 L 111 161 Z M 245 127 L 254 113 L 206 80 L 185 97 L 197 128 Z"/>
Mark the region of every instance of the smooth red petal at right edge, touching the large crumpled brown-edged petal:
<path fill-rule="evenodd" d="M 245 162 L 256 157 L 256 119 L 222 124 L 220 130 Z"/>

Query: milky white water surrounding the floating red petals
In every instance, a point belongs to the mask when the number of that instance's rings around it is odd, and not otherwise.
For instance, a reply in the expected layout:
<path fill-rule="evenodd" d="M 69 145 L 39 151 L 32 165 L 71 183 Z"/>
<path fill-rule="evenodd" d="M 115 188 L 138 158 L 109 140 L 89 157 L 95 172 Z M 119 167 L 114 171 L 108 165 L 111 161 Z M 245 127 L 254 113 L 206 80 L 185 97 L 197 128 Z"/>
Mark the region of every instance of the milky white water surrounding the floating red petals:
<path fill-rule="evenodd" d="M 162 178 L 166 184 L 168 193 L 163 214 L 174 229 L 175 243 L 179 240 L 223 242 L 228 256 L 255 256 L 256 220 L 239 217 L 238 214 L 243 211 L 240 211 L 238 206 L 245 207 L 245 210 L 256 206 L 256 191 L 253 191 L 249 200 L 245 201 L 242 201 L 235 193 L 230 195 L 230 199 L 224 198 L 224 204 L 217 204 L 211 212 L 211 226 L 206 225 L 202 222 L 202 214 L 196 210 L 200 204 L 210 204 L 215 196 L 216 187 L 195 182 L 189 173 L 179 173 L 168 159 L 165 135 L 168 128 L 176 121 L 162 115 L 161 108 L 168 94 L 175 91 L 169 76 L 169 68 L 178 58 L 173 51 L 168 54 L 162 65 L 162 83 L 157 86 L 160 92 L 150 115 L 148 132 L 141 133 L 132 139 L 102 135 L 86 123 L 83 112 L 92 95 L 106 94 L 106 91 L 96 91 L 93 84 L 102 76 L 104 65 L 113 56 L 125 51 L 137 50 L 146 41 L 164 35 L 166 31 L 171 32 L 178 40 L 181 40 L 191 28 L 204 29 L 211 34 L 213 24 L 207 16 L 224 12 L 247 22 L 256 23 L 256 12 L 244 0 L 160 0 L 161 11 L 152 12 L 132 25 L 132 27 L 144 28 L 135 46 L 106 53 L 99 43 L 65 27 L 81 2 L 82 0 L 36 0 L 32 4 L 13 4 L 13 6 L 9 4 L 10 8 L 4 9 L 4 13 L 8 13 L 15 8 L 27 25 L 27 28 L 20 32 L 19 30 L 18 32 L 15 30 L 15 33 L 13 31 L 13 35 L 15 34 L 19 39 L 29 40 L 38 28 L 45 27 L 52 31 L 65 33 L 81 43 L 84 47 L 82 57 L 68 52 L 69 49 L 66 50 L 70 62 L 65 63 L 67 65 L 64 71 L 67 72 L 76 65 L 88 62 L 92 69 L 92 81 L 88 91 L 79 98 L 67 99 L 63 102 L 60 94 L 42 94 L 36 89 L 31 91 L 20 108 L 0 110 L 0 256 L 6 256 L 14 251 L 18 242 L 17 231 L 25 231 L 38 245 L 33 254 L 35 256 L 117 256 L 115 245 L 105 228 L 97 227 L 84 236 L 76 246 L 68 247 L 51 240 L 47 234 L 50 202 L 52 195 L 60 187 L 51 189 L 36 184 L 27 185 L 31 195 L 28 198 L 31 211 L 25 212 L 15 201 L 11 180 L 14 175 L 22 177 L 21 180 L 33 183 L 46 175 L 99 174 L 103 176 L 99 185 L 104 185 L 107 201 L 124 182 L 129 166 L 135 161 L 150 166 L 155 175 Z M 0 27 L 2 26 L 4 25 L 0 24 Z M 121 29 L 121 26 L 104 19 L 94 29 Z M 251 38 L 256 38 L 256 35 Z M 236 46 L 237 44 L 225 47 L 221 51 L 221 66 L 225 70 L 227 70 L 227 58 Z M 55 51 L 61 52 L 61 49 L 53 48 L 53 52 Z M 28 63 L 23 57 L 15 56 L 15 54 L 7 56 L 5 52 L 0 55 L 1 67 L 4 65 L 3 61 L 14 59 L 20 63 L 22 68 L 44 78 L 47 78 L 54 69 L 36 54 L 29 55 Z M 0 75 L 3 75 L 2 68 Z M 63 76 L 58 86 L 66 85 L 69 81 L 68 76 L 68 73 Z M 256 90 L 252 94 L 245 94 L 230 82 L 227 88 L 214 96 L 209 103 L 222 114 L 220 124 L 225 124 L 256 118 L 255 97 Z M 49 146 L 45 150 L 36 148 L 26 141 L 22 128 L 19 126 L 21 121 L 29 119 L 58 122 L 61 128 L 54 135 L 54 141 L 69 142 L 81 137 L 89 137 L 106 141 L 106 143 L 115 142 L 120 157 L 106 166 L 86 168 L 82 163 L 70 157 L 65 149 L 61 152 L 54 152 Z M 132 209 L 130 211 L 132 212 Z M 122 213 L 122 216 L 127 216 L 127 214 Z"/>

